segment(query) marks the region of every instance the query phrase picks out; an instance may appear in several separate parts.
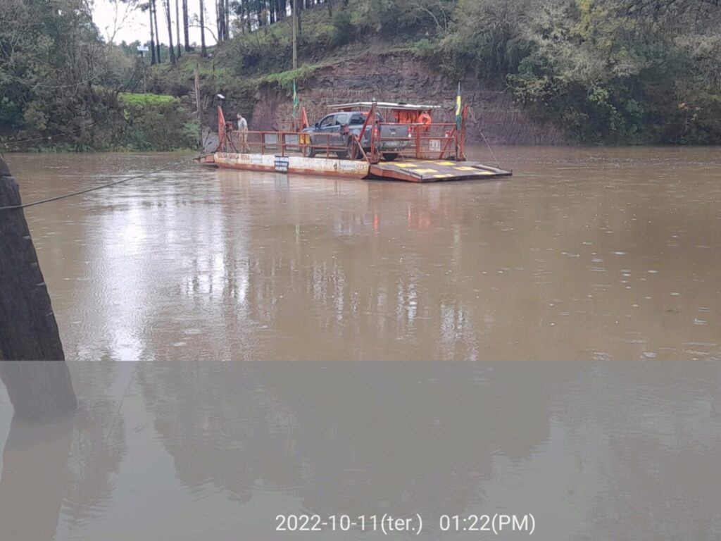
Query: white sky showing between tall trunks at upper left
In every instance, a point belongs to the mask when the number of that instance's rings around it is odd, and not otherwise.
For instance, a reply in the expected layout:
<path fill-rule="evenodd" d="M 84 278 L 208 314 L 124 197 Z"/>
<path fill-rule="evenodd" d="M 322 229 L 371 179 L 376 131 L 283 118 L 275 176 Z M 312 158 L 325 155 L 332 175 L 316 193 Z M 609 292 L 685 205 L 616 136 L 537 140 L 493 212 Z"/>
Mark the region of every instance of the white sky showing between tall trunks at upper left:
<path fill-rule="evenodd" d="M 173 45 L 177 46 L 177 37 L 175 35 L 175 0 L 170 0 L 171 6 L 171 17 L 173 19 Z M 160 31 L 160 43 L 168 43 L 168 30 L 165 22 L 165 11 L 163 7 L 163 0 L 156 0 L 158 6 L 158 28 Z M 216 43 L 214 35 L 216 35 L 216 6 L 215 1 L 205 0 L 205 43 L 207 45 L 213 45 Z M 200 8 L 200 2 L 198 0 L 188 0 L 188 17 L 190 18 L 190 44 L 197 43 L 200 46 L 200 28 L 197 26 L 198 22 L 193 22 L 193 15 L 198 14 Z M 119 3 L 118 5 L 118 20 L 123 18 L 123 9 L 126 4 Z M 182 0 L 180 2 L 180 33 L 182 35 Z M 115 3 L 109 0 L 95 0 L 93 3 L 93 21 L 100 30 L 100 34 L 105 40 L 112 34 L 113 19 L 115 18 Z M 136 9 L 134 12 L 129 14 L 128 18 L 125 19 L 125 23 L 120 30 L 115 34 L 115 43 L 120 43 L 125 40 L 126 43 L 132 43 L 135 40 L 139 40 L 141 43 L 145 43 L 150 40 L 150 28 L 149 28 L 150 15 L 148 12 L 141 12 L 140 9 Z M 195 26 L 193 26 L 195 25 Z M 210 31 L 208 31 L 208 29 Z M 182 43 L 182 39 L 180 40 Z"/>

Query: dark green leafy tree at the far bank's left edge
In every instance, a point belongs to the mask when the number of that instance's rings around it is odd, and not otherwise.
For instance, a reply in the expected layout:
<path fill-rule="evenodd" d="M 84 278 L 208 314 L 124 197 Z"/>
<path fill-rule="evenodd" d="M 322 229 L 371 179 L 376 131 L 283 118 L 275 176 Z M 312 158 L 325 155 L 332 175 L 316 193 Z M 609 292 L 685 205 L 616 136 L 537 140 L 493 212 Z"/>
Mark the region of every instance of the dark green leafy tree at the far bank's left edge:
<path fill-rule="evenodd" d="M 111 77 L 112 48 L 84 1 L 2 0 L 0 131 L 82 131 L 97 104 L 87 91 Z"/>

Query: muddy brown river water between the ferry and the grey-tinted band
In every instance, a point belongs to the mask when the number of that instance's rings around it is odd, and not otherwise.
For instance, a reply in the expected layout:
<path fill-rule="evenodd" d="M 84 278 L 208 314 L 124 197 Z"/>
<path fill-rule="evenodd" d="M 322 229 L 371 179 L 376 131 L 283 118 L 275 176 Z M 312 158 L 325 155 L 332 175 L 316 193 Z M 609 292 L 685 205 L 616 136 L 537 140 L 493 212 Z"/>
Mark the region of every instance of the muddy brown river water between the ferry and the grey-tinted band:
<path fill-rule="evenodd" d="M 721 359 L 719 149 L 497 154 L 510 180 L 187 165 L 28 208 L 66 354 Z M 28 202 L 181 158 L 8 162 Z"/>

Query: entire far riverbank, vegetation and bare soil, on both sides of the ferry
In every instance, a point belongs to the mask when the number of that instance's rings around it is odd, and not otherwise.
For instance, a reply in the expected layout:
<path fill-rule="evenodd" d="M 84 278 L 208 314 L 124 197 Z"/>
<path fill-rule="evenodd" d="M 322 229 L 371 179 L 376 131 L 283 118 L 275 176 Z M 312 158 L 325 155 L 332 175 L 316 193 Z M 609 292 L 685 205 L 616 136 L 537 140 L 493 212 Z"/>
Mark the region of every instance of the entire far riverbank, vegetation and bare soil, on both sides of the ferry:
<path fill-rule="evenodd" d="M 287 124 L 294 81 L 311 120 L 331 102 L 373 98 L 433 102 L 444 107 L 441 120 L 451 120 L 461 82 L 472 107 L 471 142 L 719 144 L 721 9 L 680 0 L 671 16 L 645 6 L 631 13 L 620 0 L 582 4 L 358 0 L 306 6 L 295 70 L 291 19 L 282 10 L 277 19 L 244 19 L 247 26 L 236 27 L 207 56 L 184 50 L 171 65 L 164 49 L 163 63 L 154 66 L 137 56 L 140 41 L 108 44 L 95 30 L 74 35 L 77 22 L 66 19 L 87 14 L 50 10 L 32 17 L 25 10 L 15 18 L 39 25 L 37 35 L 47 33 L 48 43 L 39 47 L 27 38 L 30 32 L 14 32 L 19 23 L 0 32 L 0 43 L 17 42 L 25 54 L 3 62 L 0 53 L 0 147 L 194 146 L 196 70 L 204 128 L 215 129 L 218 93 L 226 96 L 229 113 L 242 112 L 252 128 Z M 79 61 L 78 43 L 94 51 L 92 61 Z M 180 109 L 147 113 L 147 122 L 136 122 L 116 102 L 125 92 L 169 96 Z M 172 129 L 165 126 L 176 120 Z"/>

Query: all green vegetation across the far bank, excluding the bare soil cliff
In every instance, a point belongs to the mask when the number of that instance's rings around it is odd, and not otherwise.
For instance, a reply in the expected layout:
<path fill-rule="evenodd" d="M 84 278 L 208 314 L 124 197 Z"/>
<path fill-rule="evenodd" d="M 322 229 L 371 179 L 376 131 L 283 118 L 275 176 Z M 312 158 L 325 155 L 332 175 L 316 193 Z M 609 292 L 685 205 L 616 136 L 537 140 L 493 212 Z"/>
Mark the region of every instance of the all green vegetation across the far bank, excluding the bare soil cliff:
<path fill-rule="evenodd" d="M 719 0 L 298 3 L 293 70 L 288 0 L 231 1 L 217 47 L 185 43 L 171 59 L 155 42 L 142 61 L 140 42 L 100 38 L 84 0 L 0 0 L 0 148 L 193 146 L 196 69 L 206 112 L 222 92 L 252 118 L 260 86 L 288 92 L 322 67 L 384 50 L 450 79 L 503 85 L 580 142 L 721 143 Z M 167 3 L 157 4 L 162 15 Z"/>

